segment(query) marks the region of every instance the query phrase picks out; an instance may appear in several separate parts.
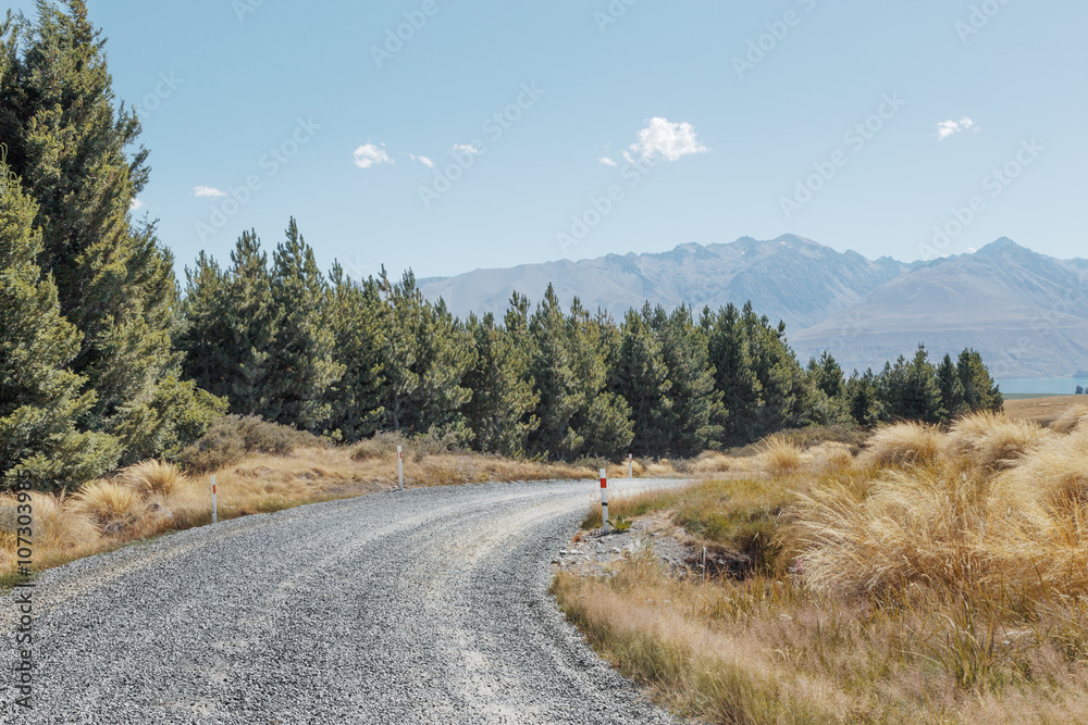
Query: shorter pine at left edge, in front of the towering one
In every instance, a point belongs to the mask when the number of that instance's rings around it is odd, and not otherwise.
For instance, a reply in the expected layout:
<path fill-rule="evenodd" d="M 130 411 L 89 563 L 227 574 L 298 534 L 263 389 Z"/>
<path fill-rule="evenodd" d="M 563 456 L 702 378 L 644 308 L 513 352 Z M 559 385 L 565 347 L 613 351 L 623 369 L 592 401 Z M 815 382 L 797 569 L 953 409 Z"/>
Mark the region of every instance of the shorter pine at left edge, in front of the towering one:
<path fill-rule="evenodd" d="M 95 393 L 81 392 L 83 378 L 66 370 L 81 336 L 38 267 L 35 213 L 0 161 L 0 480 L 13 486 L 22 478 L 45 489 L 101 475 L 116 464 L 121 448 L 113 436 L 75 426 Z"/>

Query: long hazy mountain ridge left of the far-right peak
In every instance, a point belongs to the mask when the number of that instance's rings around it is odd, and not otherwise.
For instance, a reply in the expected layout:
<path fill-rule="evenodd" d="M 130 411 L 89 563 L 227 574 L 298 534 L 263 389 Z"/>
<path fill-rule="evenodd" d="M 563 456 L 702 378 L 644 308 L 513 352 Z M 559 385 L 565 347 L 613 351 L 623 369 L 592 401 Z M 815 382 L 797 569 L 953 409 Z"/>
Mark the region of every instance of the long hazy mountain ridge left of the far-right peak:
<path fill-rule="evenodd" d="M 430 299 L 442 297 L 457 315 L 505 312 L 510 293 L 534 303 L 548 283 L 565 305 L 577 295 L 590 309 L 621 314 L 631 307 L 687 303 L 718 308 L 752 304 L 762 314 L 799 329 L 860 302 L 908 267 L 889 258 L 870 262 L 808 239 L 786 235 L 771 241 L 743 237 L 728 245 L 681 245 L 660 254 L 609 254 L 580 262 L 523 264 L 509 270 L 477 270 L 456 277 L 420 280 Z"/>

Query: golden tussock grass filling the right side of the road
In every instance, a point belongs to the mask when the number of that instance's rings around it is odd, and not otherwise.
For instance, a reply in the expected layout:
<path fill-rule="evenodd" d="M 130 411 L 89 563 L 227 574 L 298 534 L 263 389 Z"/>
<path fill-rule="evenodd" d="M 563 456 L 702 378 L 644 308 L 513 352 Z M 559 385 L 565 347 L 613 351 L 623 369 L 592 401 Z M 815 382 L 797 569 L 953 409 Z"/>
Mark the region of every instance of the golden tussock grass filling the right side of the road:
<path fill-rule="evenodd" d="M 610 502 L 734 565 L 704 579 L 647 553 L 561 573 L 567 616 L 706 722 L 1085 722 L 1088 407 L 827 448 L 770 439 L 747 471 Z"/>

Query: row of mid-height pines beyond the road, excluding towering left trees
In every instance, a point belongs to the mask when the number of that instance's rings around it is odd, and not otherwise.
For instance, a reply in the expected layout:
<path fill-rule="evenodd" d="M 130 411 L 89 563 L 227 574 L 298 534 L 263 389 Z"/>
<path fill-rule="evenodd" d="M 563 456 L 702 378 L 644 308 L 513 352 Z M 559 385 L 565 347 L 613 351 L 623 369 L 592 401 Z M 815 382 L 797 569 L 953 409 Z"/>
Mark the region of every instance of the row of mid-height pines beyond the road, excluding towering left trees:
<path fill-rule="evenodd" d="M 460 321 L 423 298 L 412 274 L 326 277 L 292 220 L 271 263 L 255 232 L 231 265 L 187 271 L 177 337 L 187 378 L 231 412 L 357 440 L 376 430 L 432 434 L 507 455 L 562 459 L 692 455 L 806 425 L 932 423 L 999 410 L 977 352 L 932 364 L 925 347 L 849 379 L 824 353 L 802 366 L 745 304 L 617 323 L 549 287 L 515 293 L 502 321 Z"/>

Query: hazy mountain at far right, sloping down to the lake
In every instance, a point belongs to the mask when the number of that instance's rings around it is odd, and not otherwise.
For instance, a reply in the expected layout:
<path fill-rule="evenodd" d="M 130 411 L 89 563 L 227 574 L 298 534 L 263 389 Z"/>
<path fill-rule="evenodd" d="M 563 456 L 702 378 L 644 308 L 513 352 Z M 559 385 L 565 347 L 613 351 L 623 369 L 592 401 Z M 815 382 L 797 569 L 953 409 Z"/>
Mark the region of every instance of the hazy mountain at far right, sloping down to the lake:
<path fill-rule="evenodd" d="M 1088 367 L 1088 264 L 999 239 L 915 265 L 790 342 L 803 357 L 829 349 L 848 370 L 925 342 L 935 355 L 973 347 L 998 377 L 1064 377 Z"/>

